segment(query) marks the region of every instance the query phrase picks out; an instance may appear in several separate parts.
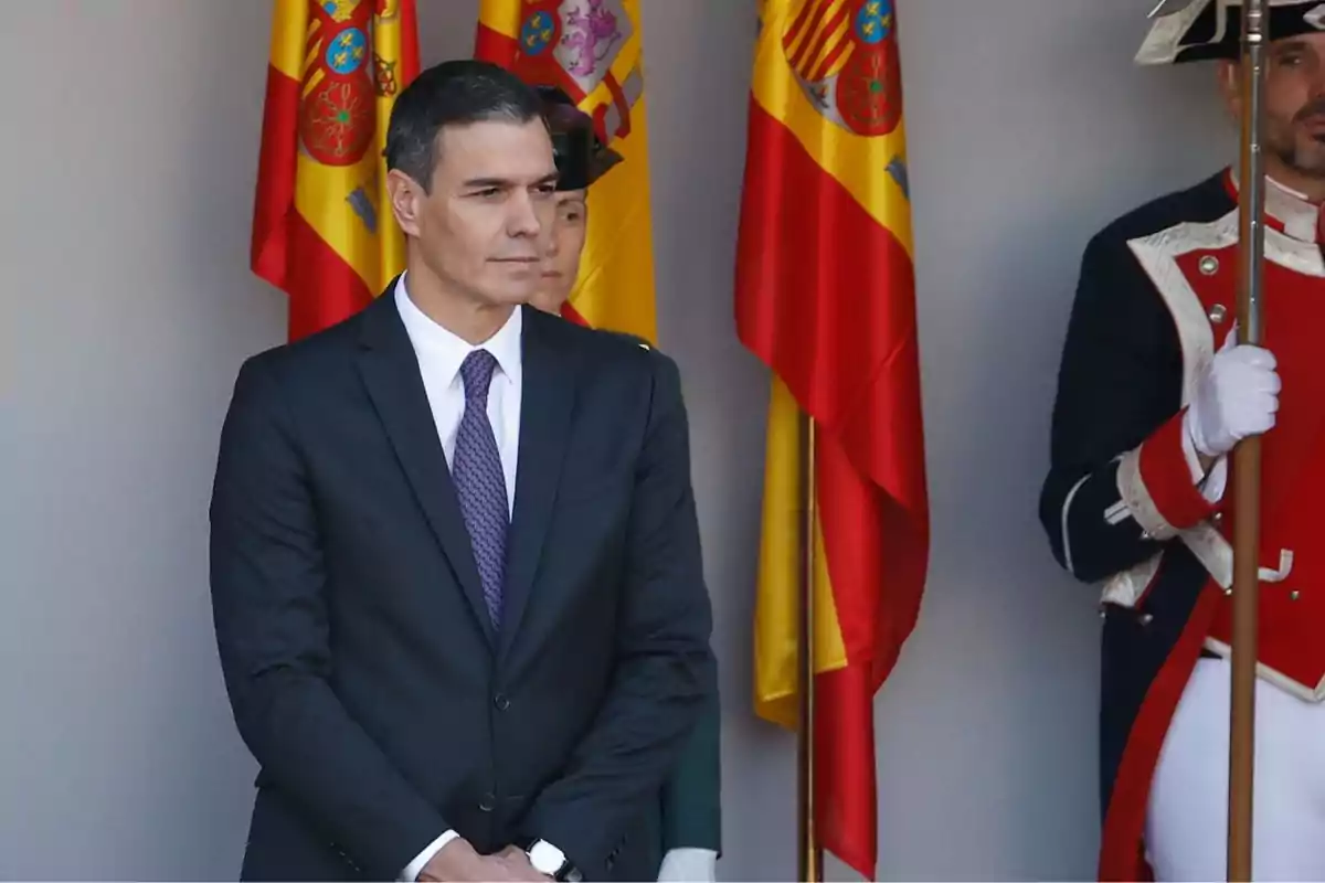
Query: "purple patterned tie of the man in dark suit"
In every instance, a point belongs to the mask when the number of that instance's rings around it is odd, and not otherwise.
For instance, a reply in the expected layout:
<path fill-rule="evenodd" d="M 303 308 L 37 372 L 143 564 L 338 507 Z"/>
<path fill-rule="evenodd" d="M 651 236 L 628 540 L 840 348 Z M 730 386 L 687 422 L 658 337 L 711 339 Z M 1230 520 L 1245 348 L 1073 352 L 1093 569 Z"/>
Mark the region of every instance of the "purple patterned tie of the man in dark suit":
<path fill-rule="evenodd" d="M 488 421 L 488 385 L 497 359 L 486 349 L 474 349 L 460 365 L 465 384 L 465 413 L 456 432 L 456 453 L 450 467 L 460 494 L 474 561 L 484 582 L 484 601 L 493 625 L 501 626 L 501 593 L 506 571 L 506 474 L 497 453 L 497 438 Z"/>

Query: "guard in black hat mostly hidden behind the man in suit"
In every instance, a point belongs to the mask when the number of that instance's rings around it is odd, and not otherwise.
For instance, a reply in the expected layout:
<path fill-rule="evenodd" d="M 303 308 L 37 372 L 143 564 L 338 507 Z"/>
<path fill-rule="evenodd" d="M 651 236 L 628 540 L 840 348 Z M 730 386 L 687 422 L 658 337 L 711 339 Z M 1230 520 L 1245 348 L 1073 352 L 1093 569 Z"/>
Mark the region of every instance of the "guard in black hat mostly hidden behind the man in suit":
<path fill-rule="evenodd" d="M 539 93 L 556 159 L 556 229 L 546 256 L 543 286 L 531 304 L 559 315 L 579 274 L 588 225 L 588 187 L 621 158 L 598 138 L 592 118 L 576 109 L 570 95 L 555 86 L 542 86 Z M 648 342 L 624 336 L 651 349 Z M 662 864 L 656 868 L 660 883 L 716 879 L 722 850 L 721 785 L 719 721 L 714 704 L 700 719 L 689 748 L 660 794 Z M 644 871 L 640 868 L 640 879 L 645 879 Z"/>

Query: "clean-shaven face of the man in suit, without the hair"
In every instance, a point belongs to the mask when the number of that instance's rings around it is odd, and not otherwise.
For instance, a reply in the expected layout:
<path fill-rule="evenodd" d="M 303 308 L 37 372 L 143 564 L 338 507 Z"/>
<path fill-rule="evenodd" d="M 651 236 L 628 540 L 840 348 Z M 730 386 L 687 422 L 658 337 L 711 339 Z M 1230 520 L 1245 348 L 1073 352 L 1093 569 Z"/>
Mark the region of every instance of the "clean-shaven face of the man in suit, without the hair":
<path fill-rule="evenodd" d="M 392 199 L 401 229 L 448 291 L 482 306 L 518 304 L 541 282 L 555 181 L 542 120 L 492 120 L 444 128 L 432 191 L 404 179 L 392 184 Z"/>

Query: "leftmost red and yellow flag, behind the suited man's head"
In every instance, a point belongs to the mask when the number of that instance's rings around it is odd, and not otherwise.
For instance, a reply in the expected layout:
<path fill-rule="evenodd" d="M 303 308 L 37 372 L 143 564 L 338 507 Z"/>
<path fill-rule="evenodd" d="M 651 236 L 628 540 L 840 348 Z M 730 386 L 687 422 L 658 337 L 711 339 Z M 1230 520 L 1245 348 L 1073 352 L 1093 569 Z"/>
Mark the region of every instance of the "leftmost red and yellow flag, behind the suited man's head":
<path fill-rule="evenodd" d="M 276 0 L 250 266 L 290 297 L 290 340 L 404 270 L 382 151 L 417 73 L 415 0 Z"/>

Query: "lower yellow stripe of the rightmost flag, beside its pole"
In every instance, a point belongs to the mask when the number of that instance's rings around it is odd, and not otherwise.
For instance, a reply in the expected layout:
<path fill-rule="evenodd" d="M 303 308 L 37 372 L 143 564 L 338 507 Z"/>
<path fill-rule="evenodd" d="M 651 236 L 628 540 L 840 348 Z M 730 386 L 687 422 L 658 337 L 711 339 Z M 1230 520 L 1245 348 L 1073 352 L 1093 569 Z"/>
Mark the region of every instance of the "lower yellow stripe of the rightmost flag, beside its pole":
<path fill-rule="evenodd" d="M 763 478 L 759 588 L 754 622 L 755 714 L 783 727 L 796 725 L 800 622 L 802 414 L 791 391 L 774 377 Z M 847 665 L 823 534 L 815 524 L 815 671 Z"/>

